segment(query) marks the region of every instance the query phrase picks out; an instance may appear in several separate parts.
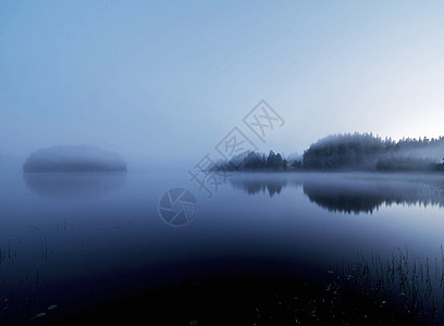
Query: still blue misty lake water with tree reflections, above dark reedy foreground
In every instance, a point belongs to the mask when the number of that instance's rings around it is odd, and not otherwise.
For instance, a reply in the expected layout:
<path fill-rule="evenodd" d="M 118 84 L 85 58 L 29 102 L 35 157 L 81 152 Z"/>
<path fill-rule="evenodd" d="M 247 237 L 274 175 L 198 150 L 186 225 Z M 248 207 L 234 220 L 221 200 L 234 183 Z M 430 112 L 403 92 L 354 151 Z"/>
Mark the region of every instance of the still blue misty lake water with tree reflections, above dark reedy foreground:
<path fill-rule="evenodd" d="M 17 319 L 212 276 L 317 277 L 359 252 L 434 261 L 444 239 L 437 174 L 233 174 L 210 199 L 182 171 L 0 180 L 0 310 Z M 197 201 L 183 226 L 159 215 L 175 187 Z"/>

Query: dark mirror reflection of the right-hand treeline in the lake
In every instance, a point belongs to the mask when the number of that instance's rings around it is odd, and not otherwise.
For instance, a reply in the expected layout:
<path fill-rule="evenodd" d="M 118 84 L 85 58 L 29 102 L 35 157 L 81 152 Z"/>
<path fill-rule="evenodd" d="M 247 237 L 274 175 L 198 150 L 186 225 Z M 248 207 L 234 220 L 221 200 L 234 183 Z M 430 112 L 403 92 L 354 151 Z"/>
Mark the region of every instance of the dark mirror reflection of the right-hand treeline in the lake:
<path fill-rule="evenodd" d="M 444 206 L 444 179 L 433 175 L 245 174 L 230 178 L 230 184 L 250 196 L 270 197 L 287 187 L 301 187 L 310 202 L 349 214 L 371 214 L 384 204 Z"/>

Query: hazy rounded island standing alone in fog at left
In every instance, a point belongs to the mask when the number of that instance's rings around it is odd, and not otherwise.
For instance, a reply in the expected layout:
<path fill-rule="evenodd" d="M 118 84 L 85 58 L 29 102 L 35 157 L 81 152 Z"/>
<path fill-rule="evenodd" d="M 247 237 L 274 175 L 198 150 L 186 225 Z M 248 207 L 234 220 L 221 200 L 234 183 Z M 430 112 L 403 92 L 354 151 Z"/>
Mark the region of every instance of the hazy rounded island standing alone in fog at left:
<path fill-rule="evenodd" d="M 32 153 L 25 173 L 126 172 L 126 162 L 116 153 L 87 146 L 55 146 Z"/>

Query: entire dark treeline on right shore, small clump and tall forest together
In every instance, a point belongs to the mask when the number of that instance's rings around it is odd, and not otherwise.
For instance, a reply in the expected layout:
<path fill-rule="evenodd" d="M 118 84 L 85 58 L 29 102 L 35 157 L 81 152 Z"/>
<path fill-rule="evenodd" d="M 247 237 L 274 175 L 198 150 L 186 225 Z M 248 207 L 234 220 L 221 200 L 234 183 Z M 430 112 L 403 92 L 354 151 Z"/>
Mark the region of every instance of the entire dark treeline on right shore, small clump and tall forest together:
<path fill-rule="evenodd" d="M 248 152 L 222 165 L 239 171 L 442 171 L 444 137 L 394 141 L 373 134 L 338 134 L 312 143 L 298 160 Z M 443 162 L 442 162 L 443 161 Z"/>

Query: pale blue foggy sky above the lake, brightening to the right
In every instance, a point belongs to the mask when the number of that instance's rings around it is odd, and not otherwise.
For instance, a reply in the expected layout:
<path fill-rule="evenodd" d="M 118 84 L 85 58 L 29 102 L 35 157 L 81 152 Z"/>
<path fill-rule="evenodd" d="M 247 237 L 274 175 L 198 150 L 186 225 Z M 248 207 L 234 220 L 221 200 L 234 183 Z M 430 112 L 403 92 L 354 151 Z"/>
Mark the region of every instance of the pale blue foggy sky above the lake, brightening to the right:
<path fill-rule="evenodd" d="M 261 99 L 286 121 L 263 151 L 444 135 L 444 3 L 0 2 L 0 154 L 196 161 Z"/>

